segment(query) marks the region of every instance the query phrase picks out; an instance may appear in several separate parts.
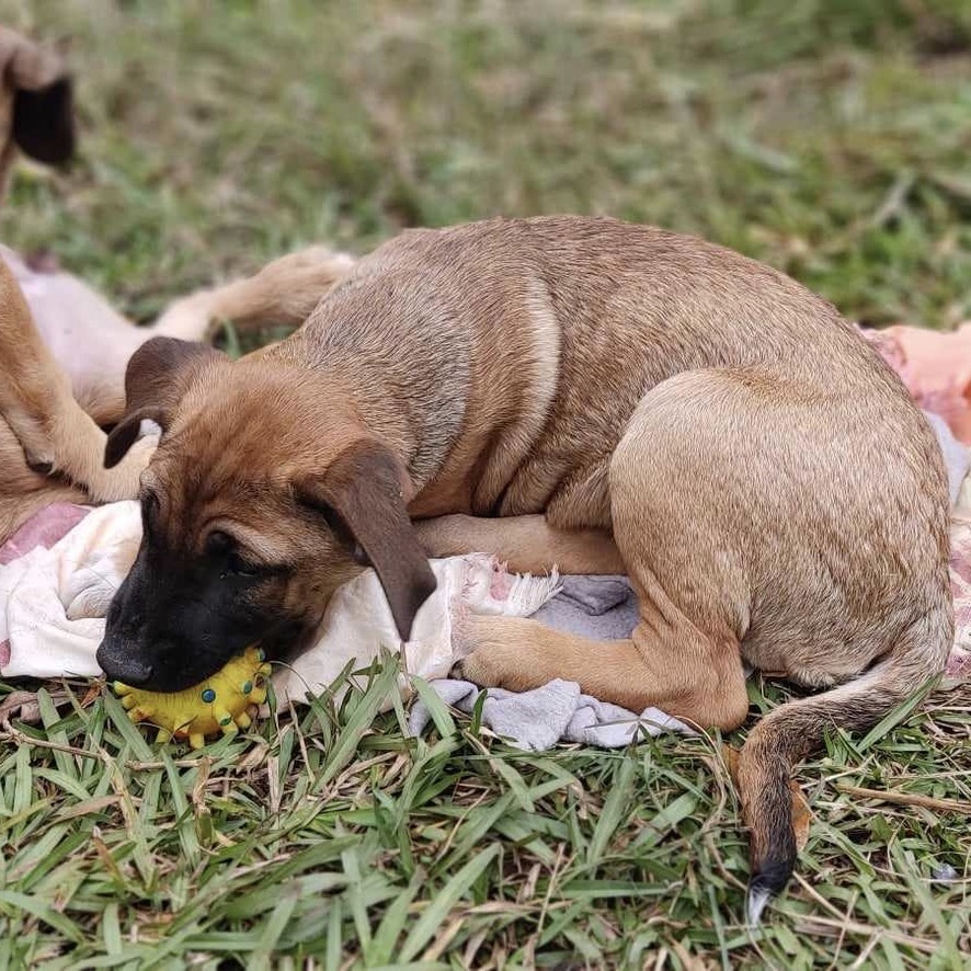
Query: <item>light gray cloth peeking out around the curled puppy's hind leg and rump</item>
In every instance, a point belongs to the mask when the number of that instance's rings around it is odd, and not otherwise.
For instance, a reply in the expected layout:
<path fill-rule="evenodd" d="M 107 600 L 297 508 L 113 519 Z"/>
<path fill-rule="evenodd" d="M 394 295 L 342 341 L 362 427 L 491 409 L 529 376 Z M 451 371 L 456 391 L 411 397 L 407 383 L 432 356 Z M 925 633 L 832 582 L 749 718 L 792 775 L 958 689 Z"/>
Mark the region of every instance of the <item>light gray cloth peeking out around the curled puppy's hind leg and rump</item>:
<path fill-rule="evenodd" d="M 951 435 L 940 418 L 929 412 L 925 415 L 944 453 L 953 504 L 971 468 L 971 452 Z M 557 594 L 533 617 L 548 627 L 592 640 L 618 640 L 630 637 L 637 625 L 637 594 L 626 576 L 563 576 Z M 480 692 L 468 681 L 443 678 L 431 685 L 447 705 L 467 713 L 471 713 Z M 424 731 L 430 718 L 424 702 L 416 701 L 409 719 L 412 734 Z M 581 694 L 574 682 L 559 679 L 518 694 L 489 688 L 482 722 L 514 745 L 532 751 L 550 749 L 557 742 L 618 749 L 662 731 L 692 733 L 687 726 L 656 708 L 636 715 Z"/>

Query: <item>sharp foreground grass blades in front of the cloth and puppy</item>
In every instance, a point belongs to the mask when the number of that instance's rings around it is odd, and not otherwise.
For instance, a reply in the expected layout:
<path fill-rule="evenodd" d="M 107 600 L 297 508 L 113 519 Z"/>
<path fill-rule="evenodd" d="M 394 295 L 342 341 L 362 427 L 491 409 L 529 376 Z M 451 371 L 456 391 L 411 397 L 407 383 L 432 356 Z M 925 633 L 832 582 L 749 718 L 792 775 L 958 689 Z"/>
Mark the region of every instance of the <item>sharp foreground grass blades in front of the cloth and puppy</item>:
<path fill-rule="evenodd" d="M 752 934 L 717 740 L 526 754 L 444 708 L 408 740 L 395 674 L 198 753 L 42 692 L 0 758 L 0 967 L 966 967 L 967 692 L 802 769 L 799 880 Z"/>

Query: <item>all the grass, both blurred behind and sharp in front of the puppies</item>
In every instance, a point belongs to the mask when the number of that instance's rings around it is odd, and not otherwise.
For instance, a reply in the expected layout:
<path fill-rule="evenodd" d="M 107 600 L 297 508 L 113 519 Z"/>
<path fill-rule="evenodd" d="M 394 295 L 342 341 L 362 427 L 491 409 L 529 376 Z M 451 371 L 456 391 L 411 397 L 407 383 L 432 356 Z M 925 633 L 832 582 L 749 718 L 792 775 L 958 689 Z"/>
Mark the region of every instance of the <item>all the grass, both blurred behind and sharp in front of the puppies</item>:
<path fill-rule="evenodd" d="M 71 38 L 83 123 L 70 172 L 19 173 L 0 238 L 146 319 L 307 242 L 610 213 L 949 328 L 971 317 L 969 10 L 0 0 Z M 408 740 L 375 718 L 392 674 L 201 753 L 42 693 L 0 734 L 0 967 L 968 966 L 967 687 L 800 769 L 799 879 L 752 935 L 718 740 L 533 755 L 444 710 Z M 755 711 L 779 697 L 753 686 Z"/>

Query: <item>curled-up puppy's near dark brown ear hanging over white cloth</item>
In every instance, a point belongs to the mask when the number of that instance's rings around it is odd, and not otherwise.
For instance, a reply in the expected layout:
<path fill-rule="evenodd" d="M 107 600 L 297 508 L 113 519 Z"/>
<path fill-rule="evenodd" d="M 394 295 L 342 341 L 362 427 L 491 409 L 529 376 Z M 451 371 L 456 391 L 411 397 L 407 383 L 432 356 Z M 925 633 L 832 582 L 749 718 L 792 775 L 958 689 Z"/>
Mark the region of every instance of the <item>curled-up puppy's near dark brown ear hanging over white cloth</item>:
<path fill-rule="evenodd" d="M 331 528 L 374 567 L 401 640 L 411 637 L 419 607 L 437 585 L 411 525 L 403 470 L 389 448 L 364 439 L 342 452 L 320 478 L 294 483 L 297 499 L 322 513 Z"/>

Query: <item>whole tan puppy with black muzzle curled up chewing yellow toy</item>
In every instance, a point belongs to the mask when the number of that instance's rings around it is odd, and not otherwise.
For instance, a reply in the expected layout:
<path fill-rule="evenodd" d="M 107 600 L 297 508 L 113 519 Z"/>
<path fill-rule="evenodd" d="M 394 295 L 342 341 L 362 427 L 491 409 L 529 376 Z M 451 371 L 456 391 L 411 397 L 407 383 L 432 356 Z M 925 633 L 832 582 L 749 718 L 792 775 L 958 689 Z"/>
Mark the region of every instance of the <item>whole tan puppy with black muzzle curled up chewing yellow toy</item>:
<path fill-rule="evenodd" d="M 107 464 L 144 419 L 164 432 L 110 675 L 176 689 L 253 640 L 281 652 L 361 562 L 405 639 L 425 553 L 624 570 L 629 640 L 477 618 L 461 673 L 569 678 L 726 730 L 749 711 L 745 662 L 826 688 L 742 753 L 753 918 L 793 866 L 793 761 L 945 663 L 932 430 L 829 304 L 696 239 L 569 217 L 408 232 L 281 344 L 231 363 L 152 341 L 127 380 Z"/>

